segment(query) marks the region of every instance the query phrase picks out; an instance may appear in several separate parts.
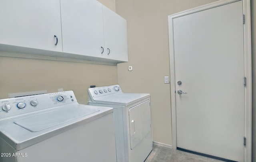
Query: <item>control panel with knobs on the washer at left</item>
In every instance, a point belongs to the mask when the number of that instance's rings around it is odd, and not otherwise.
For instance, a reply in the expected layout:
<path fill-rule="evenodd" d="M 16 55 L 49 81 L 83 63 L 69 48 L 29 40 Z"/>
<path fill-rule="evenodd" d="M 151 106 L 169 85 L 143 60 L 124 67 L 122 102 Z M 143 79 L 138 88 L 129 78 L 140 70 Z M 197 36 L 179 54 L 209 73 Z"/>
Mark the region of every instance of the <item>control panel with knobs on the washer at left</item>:
<path fill-rule="evenodd" d="M 0 100 L 0 119 L 77 102 L 73 91 L 38 94 Z"/>

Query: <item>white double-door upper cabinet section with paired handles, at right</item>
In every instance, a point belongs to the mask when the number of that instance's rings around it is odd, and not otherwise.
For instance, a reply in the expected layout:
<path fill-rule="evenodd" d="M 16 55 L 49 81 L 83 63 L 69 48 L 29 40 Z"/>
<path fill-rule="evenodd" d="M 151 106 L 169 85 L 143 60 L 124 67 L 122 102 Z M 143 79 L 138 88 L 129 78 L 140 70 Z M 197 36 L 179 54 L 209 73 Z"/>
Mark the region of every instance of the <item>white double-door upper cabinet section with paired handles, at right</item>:
<path fill-rule="evenodd" d="M 64 53 L 128 61 L 125 19 L 96 0 L 60 0 L 60 6 Z"/>

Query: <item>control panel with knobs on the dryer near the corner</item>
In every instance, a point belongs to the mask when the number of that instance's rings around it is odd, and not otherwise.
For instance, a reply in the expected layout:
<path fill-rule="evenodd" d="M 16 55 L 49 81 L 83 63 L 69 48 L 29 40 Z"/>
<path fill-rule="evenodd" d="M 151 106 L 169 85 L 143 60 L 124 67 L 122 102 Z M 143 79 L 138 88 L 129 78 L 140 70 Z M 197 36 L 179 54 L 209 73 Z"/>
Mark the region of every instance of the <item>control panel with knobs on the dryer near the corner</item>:
<path fill-rule="evenodd" d="M 88 89 L 88 94 L 93 98 L 122 92 L 118 84 L 105 87 L 94 87 Z"/>

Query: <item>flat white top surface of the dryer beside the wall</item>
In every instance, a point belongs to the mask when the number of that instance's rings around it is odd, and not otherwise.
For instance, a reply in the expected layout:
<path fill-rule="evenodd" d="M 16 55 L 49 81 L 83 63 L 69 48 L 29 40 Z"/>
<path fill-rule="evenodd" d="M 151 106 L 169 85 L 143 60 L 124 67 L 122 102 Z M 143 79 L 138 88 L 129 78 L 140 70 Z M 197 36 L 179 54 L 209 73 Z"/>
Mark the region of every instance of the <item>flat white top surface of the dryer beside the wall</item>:
<path fill-rule="evenodd" d="M 128 106 L 148 97 L 150 97 L 150 94 L 134 94 L 121 92 L 117 94 L 110 94 L 107 96 L 93 98 L 93 101 L 89 102 L 102 103 L 108 105 Z"/>

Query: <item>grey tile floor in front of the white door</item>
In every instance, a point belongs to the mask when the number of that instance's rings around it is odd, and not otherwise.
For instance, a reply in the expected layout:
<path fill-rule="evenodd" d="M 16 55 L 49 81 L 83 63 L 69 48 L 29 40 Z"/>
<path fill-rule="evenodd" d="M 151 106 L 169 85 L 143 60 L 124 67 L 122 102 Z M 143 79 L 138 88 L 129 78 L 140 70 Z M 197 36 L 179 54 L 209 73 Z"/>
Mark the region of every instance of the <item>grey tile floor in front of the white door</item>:
<path fill-rule="evenodd" d="M 154 149 L 144 162 L 223 162 L 188 152 L 154 144 Z"/>

